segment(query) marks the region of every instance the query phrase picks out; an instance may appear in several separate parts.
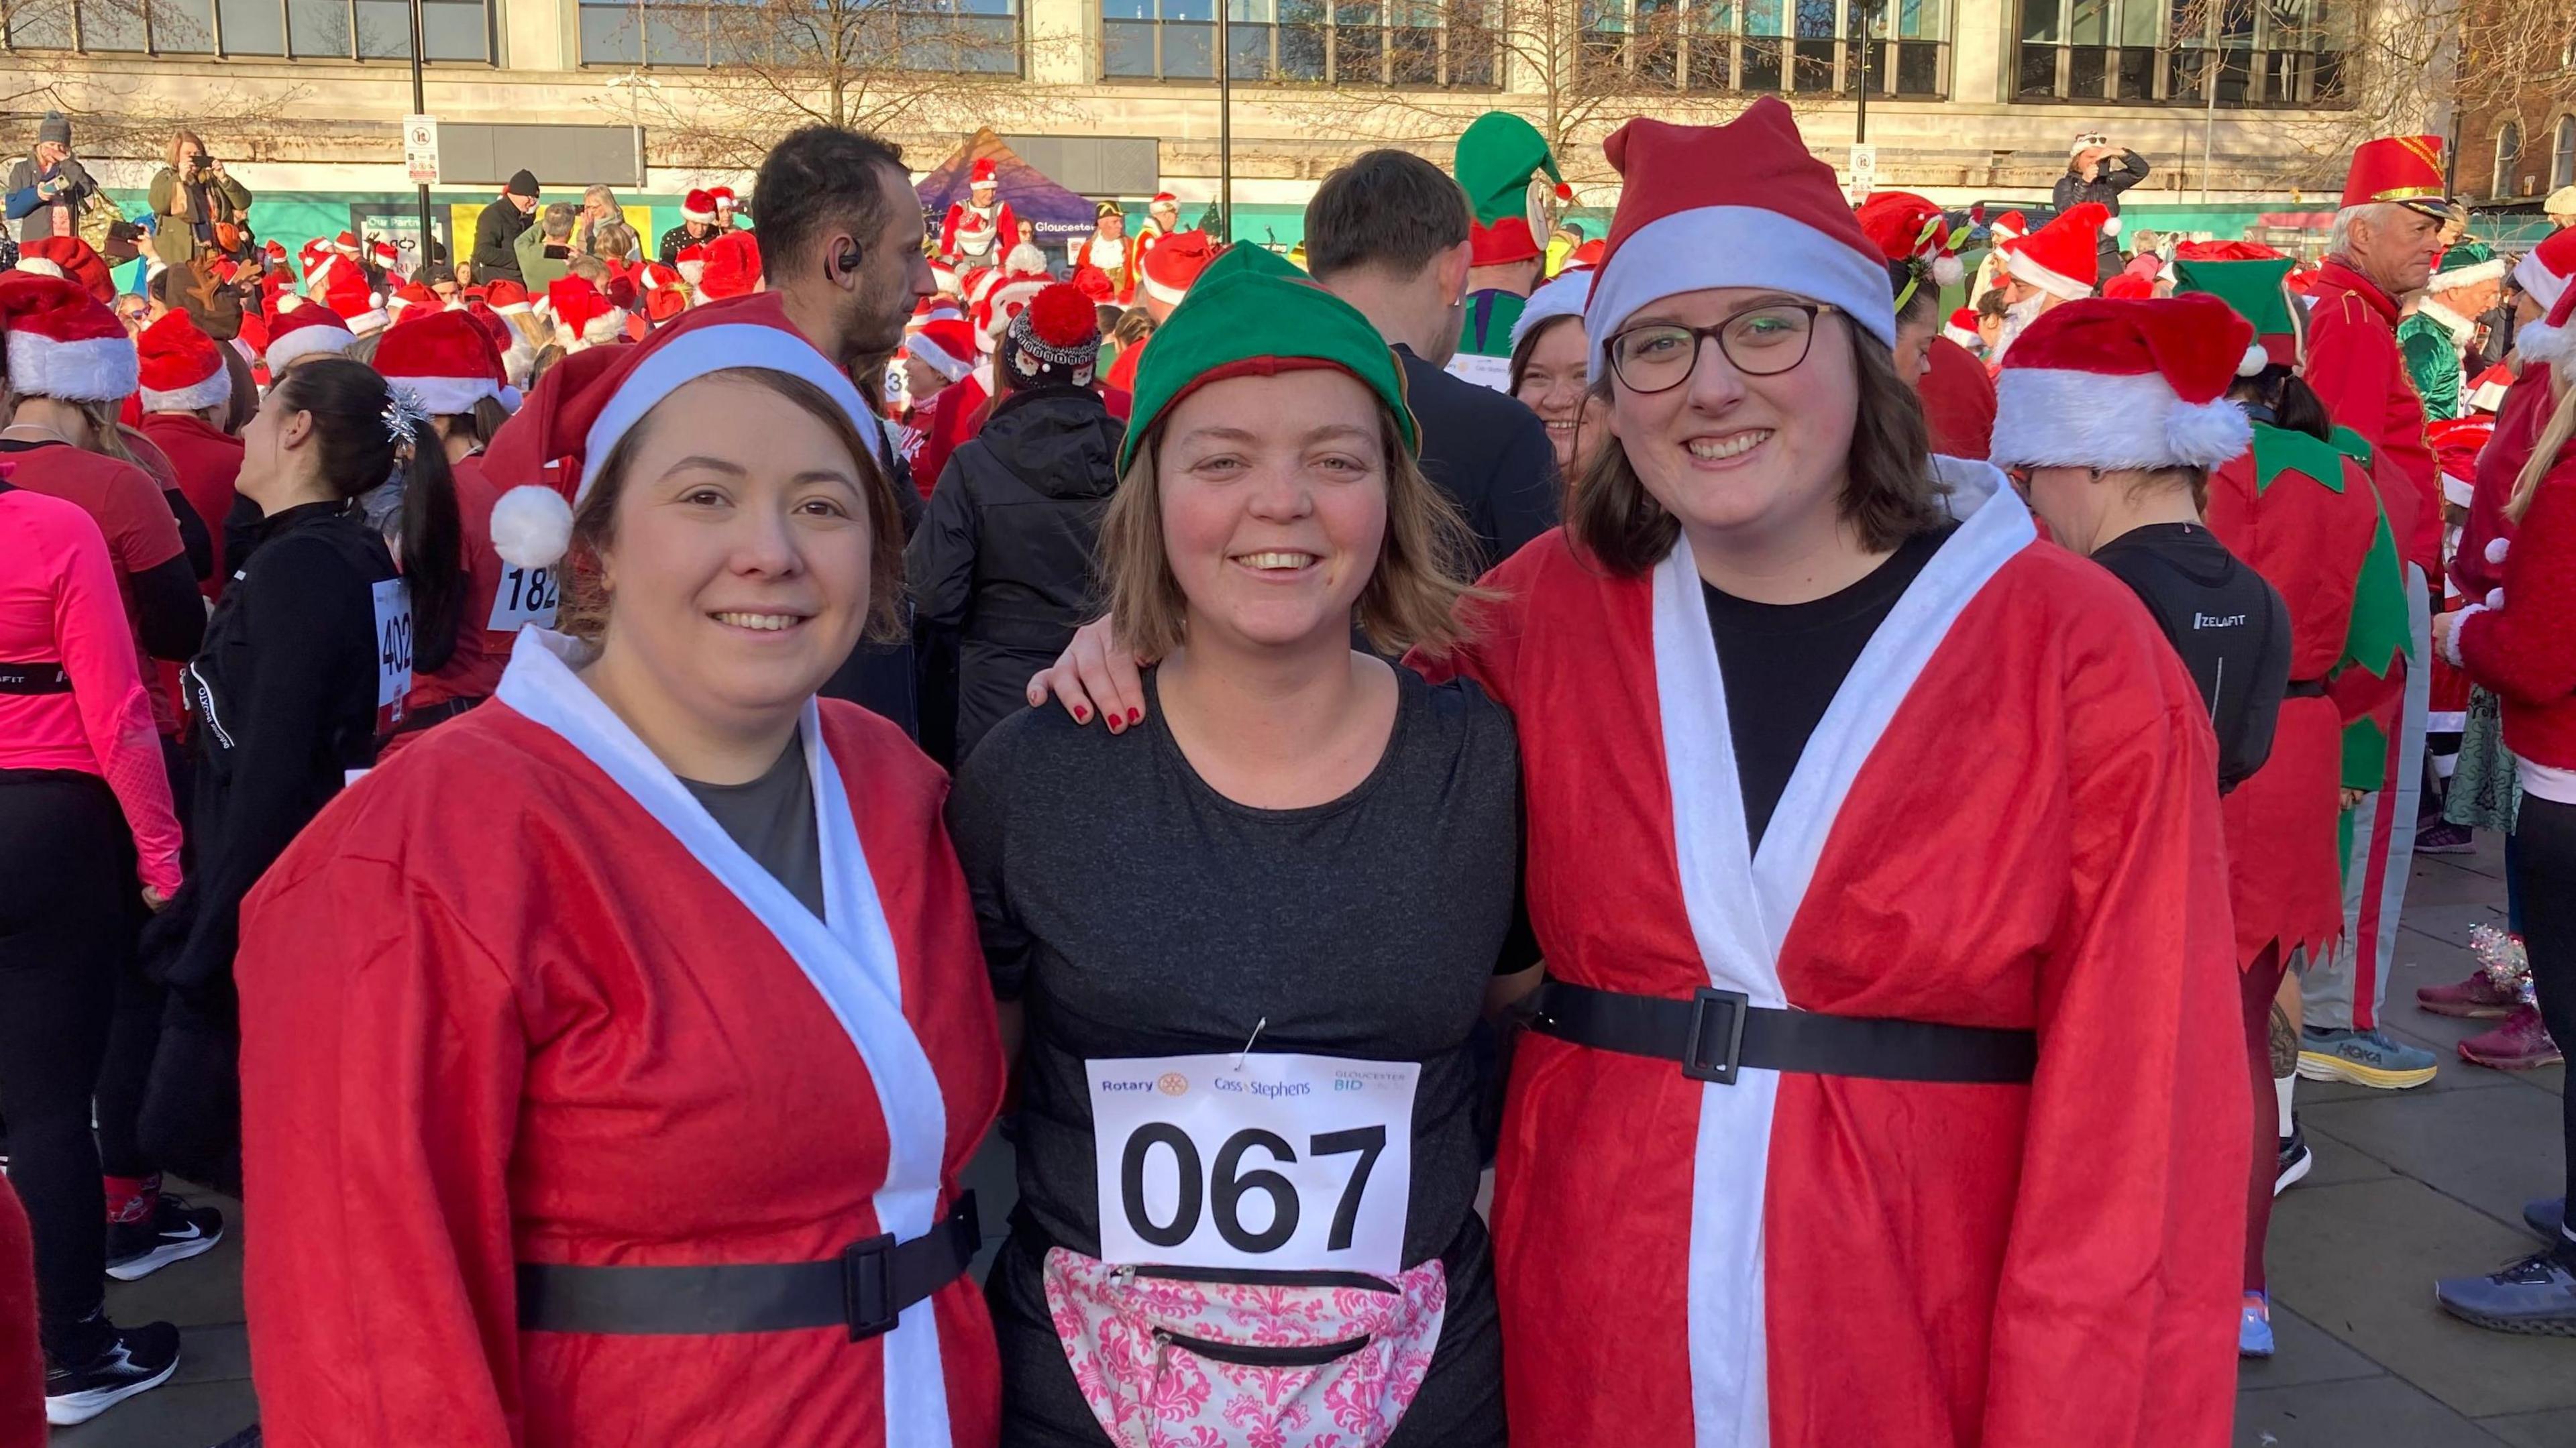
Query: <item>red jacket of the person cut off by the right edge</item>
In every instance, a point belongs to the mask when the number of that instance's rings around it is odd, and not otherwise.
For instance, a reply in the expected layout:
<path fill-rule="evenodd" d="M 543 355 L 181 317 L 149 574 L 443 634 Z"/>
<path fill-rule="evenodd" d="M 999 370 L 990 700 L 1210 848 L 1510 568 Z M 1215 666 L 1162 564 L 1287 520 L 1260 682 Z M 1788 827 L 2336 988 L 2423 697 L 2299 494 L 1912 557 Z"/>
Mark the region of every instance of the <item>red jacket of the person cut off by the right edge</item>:
<path fill-rule="evenodd" d="M 2540 479 L 2504 557 L 2504 608 L 2460 618 L 2460 665 L 2496 691 L 2504 747 L 2576 770 L 2576 453 Z"/>

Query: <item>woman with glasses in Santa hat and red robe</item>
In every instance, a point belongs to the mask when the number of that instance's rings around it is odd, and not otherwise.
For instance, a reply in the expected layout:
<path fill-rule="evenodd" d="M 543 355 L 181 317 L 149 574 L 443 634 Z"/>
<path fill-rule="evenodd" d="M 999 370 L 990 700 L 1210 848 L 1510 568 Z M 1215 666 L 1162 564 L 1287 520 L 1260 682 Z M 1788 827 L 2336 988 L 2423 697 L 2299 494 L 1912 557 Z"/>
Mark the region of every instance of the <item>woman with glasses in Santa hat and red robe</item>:
<path fill-rule="evenodd" d="M 1788 106 L 1607 155 L 1610 443 L 1461 652 L 1520 721 L 1553 976 L 1494 1188 L 1512 1435 L 2226 1443 L 2246 1072 L 2200 696 L 1929 456 Z M 1082 642 L 1046 683 L 1128 709 Z"/>

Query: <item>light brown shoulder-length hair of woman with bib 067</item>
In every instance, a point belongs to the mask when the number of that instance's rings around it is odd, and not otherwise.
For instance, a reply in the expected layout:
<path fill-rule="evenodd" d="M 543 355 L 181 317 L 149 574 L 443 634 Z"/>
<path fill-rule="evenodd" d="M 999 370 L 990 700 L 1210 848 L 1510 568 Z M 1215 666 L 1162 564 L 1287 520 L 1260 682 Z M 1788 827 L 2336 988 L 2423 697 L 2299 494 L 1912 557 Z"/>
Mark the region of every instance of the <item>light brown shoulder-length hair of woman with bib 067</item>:
<path fill-rule="evenodd" d="M 1136 461 L 1118 479 L 1108 515 L 1100 520 L 1100 577 L 1110 600 L 1110 629 L 1141 660 L 1170 657 L 1188 631 L 1190 600 L 1180 593 L 1172 554 L 1162 546 L 1162 479 L 1157 461 L 1164 443 L 1164 412 L 1136 446 Z M 1396 415 L 1378 405 L 1378 438 L 1386 448 L 1386 538 L 1378 564 L 1352 616 L 1368 642 L 1386 654 L 1422 649 L 1448 654 L 1468 639 L 1458 618 L 1463 600 L 1486 598 L 1471 587 L 1473 557 L 1466 518 L 1404 451 Z"/>

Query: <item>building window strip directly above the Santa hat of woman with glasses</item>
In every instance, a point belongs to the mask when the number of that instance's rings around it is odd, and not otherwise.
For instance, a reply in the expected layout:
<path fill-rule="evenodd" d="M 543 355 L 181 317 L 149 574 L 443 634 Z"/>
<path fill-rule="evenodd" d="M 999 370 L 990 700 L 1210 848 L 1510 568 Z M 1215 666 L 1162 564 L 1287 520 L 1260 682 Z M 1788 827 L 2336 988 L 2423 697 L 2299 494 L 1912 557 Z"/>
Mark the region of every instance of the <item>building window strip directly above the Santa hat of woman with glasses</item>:
<path fill-rule="evenodd" d="M 1579 64 L 1638 90 L 1942 98 L 1945 0 L 1582 0 Z"/>

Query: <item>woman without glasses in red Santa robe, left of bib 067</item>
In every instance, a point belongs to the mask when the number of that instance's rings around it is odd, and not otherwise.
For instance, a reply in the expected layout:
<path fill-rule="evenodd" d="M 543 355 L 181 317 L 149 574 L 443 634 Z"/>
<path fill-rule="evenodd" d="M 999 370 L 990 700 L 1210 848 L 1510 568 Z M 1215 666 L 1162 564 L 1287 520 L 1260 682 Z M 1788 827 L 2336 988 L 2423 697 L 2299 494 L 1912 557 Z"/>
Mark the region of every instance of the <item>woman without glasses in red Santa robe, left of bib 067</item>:
<path fill-rule="evenodd" d="M 945 786 L 814 698 L 902 585 L 863 402 L 770 319 L 623 363 L 567 402 L 572 636 L 245 910 L 265 1435 L 989 1445 L 956 1172 L 1002 1056 Z"/>

